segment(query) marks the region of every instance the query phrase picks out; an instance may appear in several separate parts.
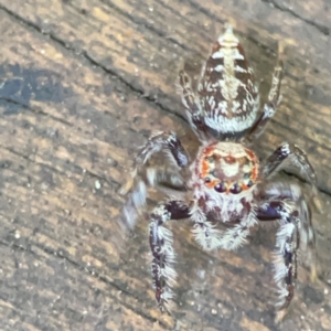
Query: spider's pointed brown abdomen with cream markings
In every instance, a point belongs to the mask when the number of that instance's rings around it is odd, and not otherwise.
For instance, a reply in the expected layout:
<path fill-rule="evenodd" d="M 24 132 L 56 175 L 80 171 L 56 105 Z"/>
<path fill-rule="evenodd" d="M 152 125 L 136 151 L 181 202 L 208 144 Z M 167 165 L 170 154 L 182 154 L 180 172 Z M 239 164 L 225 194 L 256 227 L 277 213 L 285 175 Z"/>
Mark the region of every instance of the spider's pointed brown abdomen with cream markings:
<path fill-rule="evenodd" d="M 204 122 L 215 138 L 239 138 L 254 124 L 259 108 L 258 88 L 232 28 L 214 45 L 197 93 Z"/>

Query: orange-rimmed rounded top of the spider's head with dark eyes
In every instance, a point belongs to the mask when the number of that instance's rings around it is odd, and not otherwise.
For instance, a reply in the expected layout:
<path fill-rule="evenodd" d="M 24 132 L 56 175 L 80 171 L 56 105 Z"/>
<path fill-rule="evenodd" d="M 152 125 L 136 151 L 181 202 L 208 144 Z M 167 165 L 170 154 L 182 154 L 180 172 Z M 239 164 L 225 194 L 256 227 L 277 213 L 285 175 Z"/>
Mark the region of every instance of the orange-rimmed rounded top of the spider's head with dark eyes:
<path fill-rule="evenodd" d="M 256 184 L 258 159 L 241 143 L 216 142 L 203 149 L 199 173 L 209 189 L 239 194 Z"/>

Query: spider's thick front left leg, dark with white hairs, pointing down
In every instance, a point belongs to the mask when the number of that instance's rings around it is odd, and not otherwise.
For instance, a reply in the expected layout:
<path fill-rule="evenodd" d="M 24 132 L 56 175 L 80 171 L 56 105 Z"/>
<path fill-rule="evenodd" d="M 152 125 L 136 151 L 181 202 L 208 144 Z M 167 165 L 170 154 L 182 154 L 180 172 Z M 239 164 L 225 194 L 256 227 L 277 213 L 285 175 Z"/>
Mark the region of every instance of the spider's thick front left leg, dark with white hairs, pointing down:
<path fill-rule="evenodd" d="M 153 256 L 153 287 L 161 311 L 170 311 L 171 286 L 177 277 L 173 269 L 175 254 L 172 248 L 172 234 L 162 225 L 170 220 L 182 220 L 189 216 L 190 207 L 183 201 L 169 201 L 159 204 L 150 215 L 149 243 Z"/>

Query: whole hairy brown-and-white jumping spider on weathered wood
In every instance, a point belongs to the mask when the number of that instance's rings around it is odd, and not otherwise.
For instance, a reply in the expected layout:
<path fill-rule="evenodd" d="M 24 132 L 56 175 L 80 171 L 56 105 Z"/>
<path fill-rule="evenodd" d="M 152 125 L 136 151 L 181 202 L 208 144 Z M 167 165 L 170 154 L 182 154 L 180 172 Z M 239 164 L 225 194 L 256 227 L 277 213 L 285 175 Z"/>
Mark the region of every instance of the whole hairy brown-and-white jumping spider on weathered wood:
<path fill-rule="evenodd" d="M 190 76 L 180 71 L 178 89 L 189 124 L 201 142 L 196 157 L 190 162 L 174 132 L 153 132 L 136 158 L 131 180 L 122 189 L 122 193 L 130 192 L 124 215 L 132 227 L 137 210 L 146 203 L 147 186 L 167 181 L 185 188 L 179 197 L 169 195 L 149 215 L 152 280 L 161 311 L 170 311 L 177 277 L 172 233 L 164 225 L 185 218 L 192 222 L 196 242 L 207 250 L 237 249 L 258 222 L 278 221 L 274 263 L 276 306 L 289 306 L 299 248 L 314 248 L 314 232 L 300 186 L 270 178 L 287 166 L 295 168 L 312 188 L 317 177 L 306 153 L 296 145 L 281 143 L 264 162 L 247 147 L 260 136 L 276 111 L 282 74 L 282 62 L 278 58 L 267 103 L 258 114 L 255 75 L 229 25 L 202 68 L 197 90 L 193 90 Z M 167 166 L 148 167 L 157 152 L 166 154 Z M 188 180 L 182 170 L 186 171 Z M 217 229 L 220 222 L 231 226 Z"/>

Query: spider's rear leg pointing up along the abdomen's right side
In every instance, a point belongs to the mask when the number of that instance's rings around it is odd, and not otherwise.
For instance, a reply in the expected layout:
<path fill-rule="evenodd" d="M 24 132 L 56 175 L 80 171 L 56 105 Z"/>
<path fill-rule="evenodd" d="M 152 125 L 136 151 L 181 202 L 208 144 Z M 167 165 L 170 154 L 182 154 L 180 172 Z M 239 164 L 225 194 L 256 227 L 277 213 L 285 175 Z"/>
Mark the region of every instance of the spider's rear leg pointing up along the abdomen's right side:
<path fill-rule="evenodd" d="M 254 139 L 258 138 L 265 130 L 269 119 L 275 115 L 277 106 L 280 104 L 281 100 L 280 86 L 284 64 L 282 61 L 279 60 L 273 74 L 273 82 L 268 95 L 268 102 L 265 104 L 261 115 L 258 117 L 258 119 L 255 121 L 252 129 L 249 130 L 246 137 L 248 141 L 253 141 Z"/>

